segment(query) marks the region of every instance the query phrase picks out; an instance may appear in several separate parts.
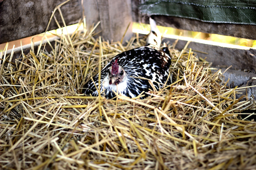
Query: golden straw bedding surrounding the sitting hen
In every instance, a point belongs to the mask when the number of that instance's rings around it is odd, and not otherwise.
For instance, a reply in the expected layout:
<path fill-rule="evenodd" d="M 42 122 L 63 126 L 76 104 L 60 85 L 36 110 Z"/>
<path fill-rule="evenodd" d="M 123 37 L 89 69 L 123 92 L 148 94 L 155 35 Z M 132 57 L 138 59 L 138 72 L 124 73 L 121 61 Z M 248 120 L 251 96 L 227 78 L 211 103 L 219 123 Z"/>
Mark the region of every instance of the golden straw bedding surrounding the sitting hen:
<path fill-rule="evenodd" d="M 172 84 L 146 99 L 81 94 L 99 65 L 144 45 L 101 41 L 94 29 L 15 62 L 1 53 L 2 169 L 256 169 L 256 123 L 239 116 L 255 104 L 236 99 L 238 88 L 191 49 L 169 45 Z"/>

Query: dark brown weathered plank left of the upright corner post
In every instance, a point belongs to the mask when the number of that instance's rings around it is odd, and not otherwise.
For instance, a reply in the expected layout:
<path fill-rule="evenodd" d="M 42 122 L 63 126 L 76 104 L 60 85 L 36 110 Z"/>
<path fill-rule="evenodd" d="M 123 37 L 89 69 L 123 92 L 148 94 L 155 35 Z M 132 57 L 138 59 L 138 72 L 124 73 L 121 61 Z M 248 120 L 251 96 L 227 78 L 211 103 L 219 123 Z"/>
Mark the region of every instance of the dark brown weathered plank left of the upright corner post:
<path fill-rule="evenodd" d="M 4 0 L 0 3 L 0 43 L 14 41 L 45 31 L 54 8 L 66 0 Z M 78 23 L 82 18 L 80 0 L 71 0 L 61 8 L 66 25 Z M 59 12 L 55 14 L 63 26 Z M 56 29 L 54 19 L 49 30 Z"/>

